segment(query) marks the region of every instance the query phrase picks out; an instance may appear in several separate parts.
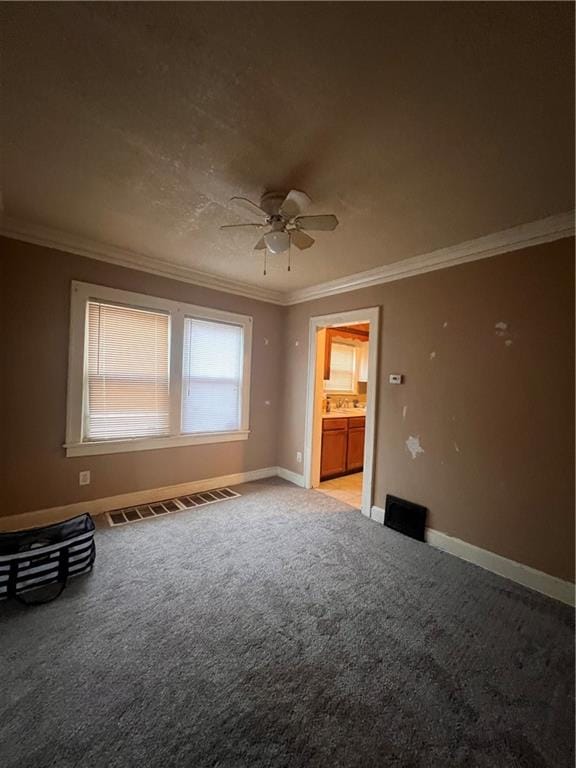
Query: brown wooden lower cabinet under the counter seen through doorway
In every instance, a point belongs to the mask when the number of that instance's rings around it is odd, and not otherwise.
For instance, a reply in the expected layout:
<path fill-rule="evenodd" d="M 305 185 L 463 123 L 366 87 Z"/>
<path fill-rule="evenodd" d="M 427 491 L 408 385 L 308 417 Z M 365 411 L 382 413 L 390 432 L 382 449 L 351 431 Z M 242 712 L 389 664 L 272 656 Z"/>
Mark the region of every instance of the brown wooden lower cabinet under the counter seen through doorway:
<path fill-rule="evenodd" d="M 362 469 L 364 434 L 364 416 L 349 419 L 323 419 L 321 480 Z"/>

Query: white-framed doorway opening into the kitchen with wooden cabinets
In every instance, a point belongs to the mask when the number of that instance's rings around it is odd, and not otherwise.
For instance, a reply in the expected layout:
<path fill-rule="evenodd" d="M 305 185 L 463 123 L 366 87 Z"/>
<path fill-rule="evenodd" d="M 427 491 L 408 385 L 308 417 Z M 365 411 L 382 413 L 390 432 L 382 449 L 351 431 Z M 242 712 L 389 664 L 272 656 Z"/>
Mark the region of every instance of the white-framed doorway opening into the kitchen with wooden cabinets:
<path fill-rule="evenodd" d="M 370 517 L 379 307 L 310 319 L 304 482 Z"/>

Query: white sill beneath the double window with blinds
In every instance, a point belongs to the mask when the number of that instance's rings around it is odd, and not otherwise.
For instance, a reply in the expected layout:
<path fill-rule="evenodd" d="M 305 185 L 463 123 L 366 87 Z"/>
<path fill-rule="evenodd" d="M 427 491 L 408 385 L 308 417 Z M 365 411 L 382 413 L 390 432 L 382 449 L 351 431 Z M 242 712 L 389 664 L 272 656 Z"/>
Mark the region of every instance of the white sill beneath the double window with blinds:
<path fill-rule="evenodd" d="M 177 435 L 175 437 L 144 437 L 130 440 L 102 440 L 100 442 L 65 443 L 66 456 L 98 456 L 106 453 L 132 453 L 133 451 L 155 451 L 159 448 L 179 448 L 186 445 L 206 445 L 208 443 L 230 443 L 247 440 L 249 429 L 235 432 L 203 432 L 195 435 Z"/>

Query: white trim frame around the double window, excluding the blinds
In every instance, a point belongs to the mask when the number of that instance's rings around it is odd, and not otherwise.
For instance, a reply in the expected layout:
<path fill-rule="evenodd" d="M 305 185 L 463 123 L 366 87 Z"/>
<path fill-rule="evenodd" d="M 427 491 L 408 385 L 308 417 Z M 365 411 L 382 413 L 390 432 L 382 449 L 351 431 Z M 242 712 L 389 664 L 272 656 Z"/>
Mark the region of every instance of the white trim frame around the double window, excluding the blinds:
<path fill-rule="evenodd" d="M 83 439 L 86 387 L 87 348 L 86 306 L 89 300 L 125 304 L 139 309 L 166 312 L 170 317 L 170 435 L 167 437 L 134 437 L 122 440 L 87 441 Z M 182 365 L 184 318 L 216 320 L 243 328 L 242 397 L 240 429 L 230 432 L 197 432 L 183 434 Z M 250 373 L 252 359 L 252 317 L 212 307 L 163 299 L 143 293 L 108 288 L 103 285 L 72 281 L 70 291 L 70 342 L 68 351 L 68 392 L 66 398 L 66 456 L 94 456 L 108 453 L 176 448 L 247 440 L 250 434 Z"/>

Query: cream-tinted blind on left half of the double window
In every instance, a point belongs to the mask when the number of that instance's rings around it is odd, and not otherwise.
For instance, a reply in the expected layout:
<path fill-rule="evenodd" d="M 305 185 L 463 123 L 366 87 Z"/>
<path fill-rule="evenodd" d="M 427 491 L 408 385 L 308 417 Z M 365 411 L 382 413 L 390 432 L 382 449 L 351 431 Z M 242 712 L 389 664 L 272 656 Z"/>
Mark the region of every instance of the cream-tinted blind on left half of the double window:
<path fill-rule="evenodd" d="M 84 439 L 170 432 L 169 316 L 88 302 Z"/>

